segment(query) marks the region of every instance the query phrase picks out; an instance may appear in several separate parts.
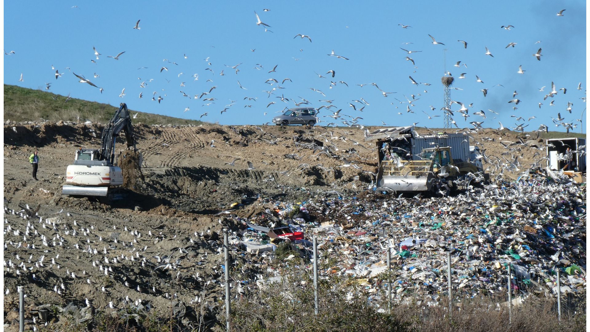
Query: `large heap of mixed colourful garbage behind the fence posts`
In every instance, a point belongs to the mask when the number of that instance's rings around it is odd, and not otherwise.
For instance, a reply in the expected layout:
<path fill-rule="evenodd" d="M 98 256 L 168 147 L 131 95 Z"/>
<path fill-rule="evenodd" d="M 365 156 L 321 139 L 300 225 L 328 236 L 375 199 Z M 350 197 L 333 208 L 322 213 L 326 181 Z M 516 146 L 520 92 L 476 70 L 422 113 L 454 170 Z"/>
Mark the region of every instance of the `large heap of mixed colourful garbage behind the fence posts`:
<path fill-rule="evenodd" d="M 386 284 L 391 252 L 395 301 L 422 294 L 437 303 L 447 291 L 447 258 L 451 253 L 453 292 L 463 296 L 506 297 L 507 267 L 515 295 L 585 296 L 586 185 L 537 172 L 518 181 L 469 190 L 454 197 L 407 198 L 375 190 L 356 197 L 316 195 L 286 204 L 259 198 L 228 219 L 230 244 L 258 271 L 273 259 L 301 263 L 308 271 L 312 237 L 316 237 L 322 278 L 346 276 L 378 297 Z M 284 257 L 281 244 L 299 253 Z M 260 274 L 240 274 L 256 291 Z M 251 279 L 247 279 L 251 278 Z M 430 303 L 430 302 L 429 302 Z"/>

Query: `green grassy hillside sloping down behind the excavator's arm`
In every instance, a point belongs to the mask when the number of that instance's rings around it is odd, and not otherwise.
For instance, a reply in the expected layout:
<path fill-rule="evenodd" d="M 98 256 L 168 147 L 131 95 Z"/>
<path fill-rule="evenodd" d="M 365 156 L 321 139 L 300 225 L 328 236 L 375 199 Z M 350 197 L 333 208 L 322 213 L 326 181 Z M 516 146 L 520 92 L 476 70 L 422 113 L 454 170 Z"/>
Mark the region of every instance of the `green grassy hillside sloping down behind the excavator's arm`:
<path fill-rule="evenodd" d="M 55 100 L 54 100 L 55 98 Z M 57 122 L 76 121 L 77 117 L 92 122 L 107 123 L 117 110 L 114 106 L 71 98 L 65 102 L 65 96 L 51 92 L 32 90 L 25 87 L 4 84 L 4 121 L 42 121 L 40 118 Z M 132 111 L 132 109 L 129 109 Z M 136 110 L 132 111 L 135 115 Z M 159 123 L 167 125 L 198 125 L 201 121 L 172 118 L 171 116 L 139 112 L 135 122 L 148 125 Z"/>

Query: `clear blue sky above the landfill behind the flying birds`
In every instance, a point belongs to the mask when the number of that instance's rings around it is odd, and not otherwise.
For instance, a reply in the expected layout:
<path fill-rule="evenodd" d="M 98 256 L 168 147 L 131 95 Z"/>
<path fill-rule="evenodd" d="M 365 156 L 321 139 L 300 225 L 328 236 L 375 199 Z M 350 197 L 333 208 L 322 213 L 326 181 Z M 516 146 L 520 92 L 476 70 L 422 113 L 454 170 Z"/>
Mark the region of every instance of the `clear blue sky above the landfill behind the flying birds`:
<path fill-rule="evenodd" d="M 558 17 L 561 9 L 566 10 Z M 254 11 L 272 32 L 256 24 Z M 133 29 L 137 19 L 140 30 Z M 501 25 L 514 27 L 506 30 Z M 312 42 L 293 38 L 297 34 L 309 35 Z M 445 45 L 432 44 L 428 34 Z M 457 40 L 467 41 L 467 48 Z M 506 48 L 509 43 L 517 44 Z M 101 53 L 99 60 L 93 47 Z M 485 47 L 493 57 L 485 54 Z M 539 47 L 543 56 L 537 61 L 533 54 Z M 407 54 L 401 48 L 420 52 Z M 199 119 L 208 112 L 202 120 L 224 125 L 270 122 L 277 111 L 306 99 L 316 108 L 330 105 L 319 100 L 333 100 L 336 108 L 332 110 L 360 116 L 360 124 L 418 122 L 418 126 L 441 128 L 442 116 L 428 119 L 424 112 L 442 115 L 440 78 L 445 69 L 455 78 L 453 87 L 461 89 L 451 90 L 451 99 L 469 108 L 465 121 L 456 112 L 461 106 L 451 107 L 460 127 L 484 121 L 484 127 L 497 128 L 500 121 L 506 128 L 526 122 L 527 130 L 545 123 L 550 130 L 565 131 L 553 125 L 551 118 L 559 112 L 564 121 L 579 125 L 575 119 L 581 118 L 586 107 L 581 99 L 586 96 L 585 1 L 10 1 L 4 3 L 4 50 L 15 51 L 4 56 L 6 84 L 44 90 L 45 82 L 51 82 L 49 91 L 58 95 L 114 106 L 125 102 L 130 109 L 179 118 Z M 328 56 L 332 50 L 350 60 Z M 122 51 L 119 60 L 107 57 Z M 460 67 L 454 66 L 457 61 Z M 225 66 L 237 64 L 237 74 Z M 517 73 L 520 65 L 524 74 Z M 56 80 L 52 66 L 63 76 Z M 274 66 L 276 71 L 268 73 Z M 160 72 L 162 67 L 168 70 Z M 329 70 L 335 71 L 334 78 L 326 74 Z M 78 83 L 72 72 L 104 91 Z M 21 73 L 23 82 L 19 82 Z M 465 79 L 458 79 L 461 73 L 466 73 Z M 476 82 L 476 75 L 483 83 Z M 409 76 L 431 85 L 412 84 Z M 286 78 L 292 82 L 283 83 Z M 265 83 L 268 79 L 278 84 Z M 567 93 L 559 91 L 543 100 L 551 82 L 557 89 L 565 87 Z M 371 83 L 395 93 L 384 97 Z M 576 89 L 578 83 L 581 90 Z M 217 87 L 209 95 L 194 99 L 213 86 Z M 545 89 L 540 92 L 542 86 Z M 125 95 L 120 97 L 123 88 Z M 486 97 L 481 89 L 487 89 Z M 508 103 L 515 90 L 519 105 Z M 163 97 L 160 103 L 152 100 L 153 92 L 156 99 Z M 412 105 L 405 98 L 411 100 L 411 95 L 416 98 Z M 289 102 L 281 101 L 281 96 Z M 203 100 L 208 97 L 215 99 Z M 353 102 L 361 98 L 369 105 Z M 276 103 L 267 108 L 270 102 Z M 566 110 L 568 102 L 573 103 L 571 114 Z M 539 103 L 543 103 L 540 108 Z M 414 113 L 407 112 L 408 106 Z M 225 108 L 227 112 L 220 114 Z M 480 110 L 486 119 L 473 115 Z M 332 120 L 322 118 L 330 114 L 322 109 L 320 119 Z M 511 115 L 524 120 L 516 121 Z M 527 121 L 530 116 L 536 118 Z M 579 132 L 579 126 L 574 131 Z"/>

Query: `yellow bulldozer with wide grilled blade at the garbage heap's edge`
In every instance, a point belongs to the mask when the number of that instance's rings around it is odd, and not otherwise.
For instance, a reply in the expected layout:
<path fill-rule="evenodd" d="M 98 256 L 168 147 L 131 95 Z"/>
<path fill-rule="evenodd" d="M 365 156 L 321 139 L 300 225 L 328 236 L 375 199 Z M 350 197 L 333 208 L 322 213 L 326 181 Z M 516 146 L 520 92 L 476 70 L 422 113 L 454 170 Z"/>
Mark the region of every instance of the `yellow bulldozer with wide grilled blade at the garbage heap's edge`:
<path fill-rule="evenodd" d="M 465 190 L 489 180 L 474 162 L 453 159 L 451 147 L 424 148 L 419 160 L 381 161 L 376 187 L 379 191 L 415 193 L 430 191 L 447 196 L 451 191 Z"/>

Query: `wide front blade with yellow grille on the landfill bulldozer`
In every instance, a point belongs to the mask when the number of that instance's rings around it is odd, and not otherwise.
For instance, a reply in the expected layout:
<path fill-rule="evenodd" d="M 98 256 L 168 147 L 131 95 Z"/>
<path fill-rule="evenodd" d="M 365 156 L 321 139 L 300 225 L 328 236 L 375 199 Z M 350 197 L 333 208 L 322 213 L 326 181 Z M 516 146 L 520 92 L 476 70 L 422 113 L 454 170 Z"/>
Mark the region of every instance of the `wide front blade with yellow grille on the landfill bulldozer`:
<path fill-rule="evenodd" d="M 380 191 L 428 191 L 432 187 L 432 164 L 428 161 L 382 161 L 377 174 Z"/>

